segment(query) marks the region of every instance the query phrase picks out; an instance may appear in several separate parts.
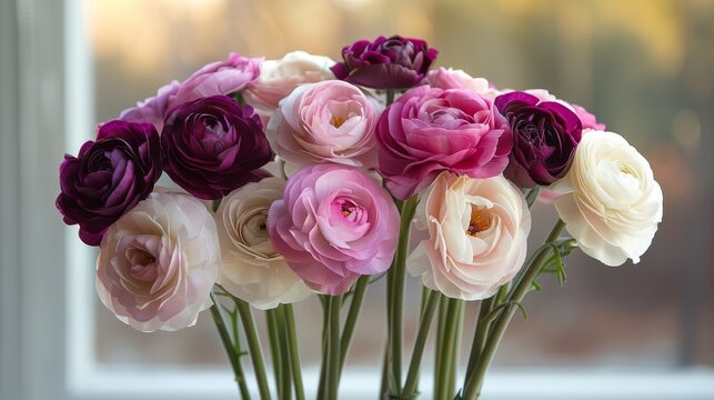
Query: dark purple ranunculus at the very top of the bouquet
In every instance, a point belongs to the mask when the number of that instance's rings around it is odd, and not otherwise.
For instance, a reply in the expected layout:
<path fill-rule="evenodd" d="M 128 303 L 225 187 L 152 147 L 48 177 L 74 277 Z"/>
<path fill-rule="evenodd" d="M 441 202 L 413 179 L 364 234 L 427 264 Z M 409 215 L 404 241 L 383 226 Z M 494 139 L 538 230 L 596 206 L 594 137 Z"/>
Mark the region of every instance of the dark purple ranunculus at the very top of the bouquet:
<path fill-rule="evenodd" d="M 379 37 L 342 48 L 344 62 L 332 68 L 338 79 L 373 89 L 409 89 L 424 79 L 439 51 L 421 39 Z"/>

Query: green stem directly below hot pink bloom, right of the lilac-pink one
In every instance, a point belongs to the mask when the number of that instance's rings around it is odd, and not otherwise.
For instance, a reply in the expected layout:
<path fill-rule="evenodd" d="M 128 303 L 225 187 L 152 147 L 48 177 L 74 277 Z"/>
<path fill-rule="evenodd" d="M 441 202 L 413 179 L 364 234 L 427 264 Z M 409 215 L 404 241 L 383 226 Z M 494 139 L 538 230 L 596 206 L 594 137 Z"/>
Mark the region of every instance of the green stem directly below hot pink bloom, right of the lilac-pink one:
<path fill-rule="evenodd" d="M 399 243 L 396 246 L 396 253 L 394 254 L 394 262 L 392 263 L 394 273 L 390 316 L 392 323 L 390 329 L 390 347 L 392 352 L 392 374 L 396 387 L 391 389 L 391 393 L 400 393 L 402 391 L 402 308 L 404 300 L 404 274 L 406 269 L 406 253 L 409 251 L 410 228 L 418 203 L 419 197 L 413 196 L 406 200 L 402 207 Z"/>

